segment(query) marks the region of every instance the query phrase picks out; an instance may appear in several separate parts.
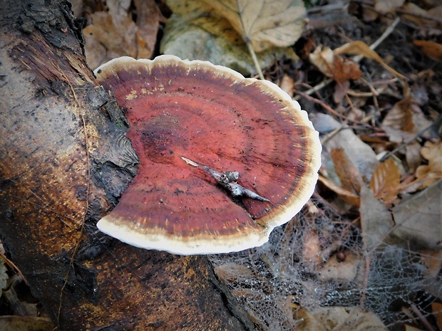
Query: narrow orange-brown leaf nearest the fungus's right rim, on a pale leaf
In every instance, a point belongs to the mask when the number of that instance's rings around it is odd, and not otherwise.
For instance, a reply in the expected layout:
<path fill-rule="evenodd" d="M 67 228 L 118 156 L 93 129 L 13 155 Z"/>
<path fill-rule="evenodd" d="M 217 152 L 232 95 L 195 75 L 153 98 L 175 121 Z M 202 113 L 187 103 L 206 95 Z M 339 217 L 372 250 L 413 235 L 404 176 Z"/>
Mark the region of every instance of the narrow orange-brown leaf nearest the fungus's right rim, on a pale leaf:
<path fill-rule="evenodd" d="M 347 157 L 344 149 L 334 148 L 330 152 L 330 156 L 333 160 L 334 170 L 341 182 L 341 187 L 346 191 L 359 195 L 361 184 L 364 181 L 354 164 Z"/>

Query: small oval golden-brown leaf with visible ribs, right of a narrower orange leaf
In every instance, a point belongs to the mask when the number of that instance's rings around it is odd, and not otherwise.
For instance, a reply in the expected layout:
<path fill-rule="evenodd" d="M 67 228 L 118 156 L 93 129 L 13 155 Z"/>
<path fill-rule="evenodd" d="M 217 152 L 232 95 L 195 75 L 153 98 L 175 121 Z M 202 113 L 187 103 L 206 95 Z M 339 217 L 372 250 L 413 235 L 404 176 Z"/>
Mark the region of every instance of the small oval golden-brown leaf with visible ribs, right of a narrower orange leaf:
<path fill-rule="evenodd" d="M 376 199 L 388 204 L 396 199 L 399 191 L 401 191 L 399 184 L 401 184 L 401 172 L 394 159 L 387 159 L 374 169 L 370 189 L 374 192 Z"/>

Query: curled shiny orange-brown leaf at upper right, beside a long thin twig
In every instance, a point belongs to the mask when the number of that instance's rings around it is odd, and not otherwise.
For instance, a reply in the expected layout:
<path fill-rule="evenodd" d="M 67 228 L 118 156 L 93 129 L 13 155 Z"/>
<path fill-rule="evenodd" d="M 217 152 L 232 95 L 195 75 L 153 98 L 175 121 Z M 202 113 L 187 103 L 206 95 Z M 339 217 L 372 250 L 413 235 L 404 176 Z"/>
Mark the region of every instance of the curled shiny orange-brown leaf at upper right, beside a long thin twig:
<path fill-rule="evenodd" d="M 309 61 L 324 75 L 340 83 L 361 77 L 361 70 L 359 70 L 357 63 L 346 60 L 341 56 L 336 56 L 329 47 L 324 48 L 324 50 L 322 50 L 321 46 L 317 47 L 309 55 Z"/>

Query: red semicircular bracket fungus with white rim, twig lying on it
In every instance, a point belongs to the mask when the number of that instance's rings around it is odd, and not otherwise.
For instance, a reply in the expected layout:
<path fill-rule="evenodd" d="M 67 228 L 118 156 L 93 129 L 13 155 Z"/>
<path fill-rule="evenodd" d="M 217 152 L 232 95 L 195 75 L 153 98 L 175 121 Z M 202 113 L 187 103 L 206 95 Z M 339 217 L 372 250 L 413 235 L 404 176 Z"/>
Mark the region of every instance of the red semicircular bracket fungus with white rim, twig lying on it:
<path fill-rule="evenodd" d="M 181 255 L 260 246 L 317 182 L 319 135 L 277 85 L 205 61 L 122 57 L 96 70 L 140 164 L 98 228 Z"/>

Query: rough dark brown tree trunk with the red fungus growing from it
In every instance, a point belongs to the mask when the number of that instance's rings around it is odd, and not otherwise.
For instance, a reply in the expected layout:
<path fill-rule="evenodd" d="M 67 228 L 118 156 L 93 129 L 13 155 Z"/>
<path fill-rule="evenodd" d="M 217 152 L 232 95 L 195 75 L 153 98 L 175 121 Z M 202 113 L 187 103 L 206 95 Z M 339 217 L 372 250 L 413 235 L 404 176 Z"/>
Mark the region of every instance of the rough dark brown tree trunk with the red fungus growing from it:
<path fill-rule="evenodd" d="M 124 117 L 86 64 L 70 4 L 0 8 L 0 236 L 58 330 L 250 327 L 205 257 L 97 231 L 136 173 Z"/>

